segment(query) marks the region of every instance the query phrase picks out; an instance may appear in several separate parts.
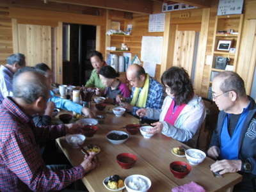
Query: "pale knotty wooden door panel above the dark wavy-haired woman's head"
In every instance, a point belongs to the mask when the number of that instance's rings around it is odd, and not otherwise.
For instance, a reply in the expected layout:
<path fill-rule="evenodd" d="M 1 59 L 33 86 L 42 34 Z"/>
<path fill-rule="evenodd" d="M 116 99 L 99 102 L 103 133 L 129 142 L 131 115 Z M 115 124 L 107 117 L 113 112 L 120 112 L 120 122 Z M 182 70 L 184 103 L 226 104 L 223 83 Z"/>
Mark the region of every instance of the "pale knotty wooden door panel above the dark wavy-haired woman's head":
<path fill-rule="evenodd" d="M 191 76 L 194 47 L 195 31 L 176 31 L 173 65 L 183 67 Z"/>

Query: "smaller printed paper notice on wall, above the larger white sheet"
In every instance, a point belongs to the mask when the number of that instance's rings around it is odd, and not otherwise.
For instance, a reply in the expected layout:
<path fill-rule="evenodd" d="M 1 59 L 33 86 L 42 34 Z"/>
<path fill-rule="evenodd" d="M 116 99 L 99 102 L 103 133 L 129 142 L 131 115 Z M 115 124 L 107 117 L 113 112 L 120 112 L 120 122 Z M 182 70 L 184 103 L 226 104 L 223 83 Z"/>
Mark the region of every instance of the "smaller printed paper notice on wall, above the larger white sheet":
<path fill-rule="evenodd" d="M 163 32 L 164 17 L 165 17 L 165 13 L 149 15 L 148 32 Z"/>

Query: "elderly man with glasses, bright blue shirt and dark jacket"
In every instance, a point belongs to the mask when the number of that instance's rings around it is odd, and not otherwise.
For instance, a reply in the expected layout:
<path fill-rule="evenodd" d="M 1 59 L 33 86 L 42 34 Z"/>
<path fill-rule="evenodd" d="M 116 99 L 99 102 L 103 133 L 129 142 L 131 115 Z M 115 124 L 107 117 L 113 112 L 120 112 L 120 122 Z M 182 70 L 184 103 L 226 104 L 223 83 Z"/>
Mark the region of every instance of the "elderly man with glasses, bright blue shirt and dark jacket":
<path fill-rule="evenodd" d="M 212 172 L 239 172 L 243 180 L 234 191 L 256 191 L 256 104 L 246 95 L 235 72 L 221 72 L 212 81 L 212 99 L 220 109 L 208 155 L 217 159 Z"/>

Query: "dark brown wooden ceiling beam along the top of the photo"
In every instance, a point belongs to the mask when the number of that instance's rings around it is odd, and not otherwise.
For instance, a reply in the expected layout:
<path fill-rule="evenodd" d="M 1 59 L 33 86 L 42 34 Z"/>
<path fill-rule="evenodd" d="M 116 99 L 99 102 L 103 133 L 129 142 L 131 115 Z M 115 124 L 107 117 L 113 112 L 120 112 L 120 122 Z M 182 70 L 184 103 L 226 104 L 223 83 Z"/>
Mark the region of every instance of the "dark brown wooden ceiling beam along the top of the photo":
<path fill-rule="evenodd" d="M 150 14 L 153 10 L 153 2 L 148 0 L 49 0 L 56 3 L 76 4 L 106 8 L 109 10 L 120 10 L 124 12 Z"/>

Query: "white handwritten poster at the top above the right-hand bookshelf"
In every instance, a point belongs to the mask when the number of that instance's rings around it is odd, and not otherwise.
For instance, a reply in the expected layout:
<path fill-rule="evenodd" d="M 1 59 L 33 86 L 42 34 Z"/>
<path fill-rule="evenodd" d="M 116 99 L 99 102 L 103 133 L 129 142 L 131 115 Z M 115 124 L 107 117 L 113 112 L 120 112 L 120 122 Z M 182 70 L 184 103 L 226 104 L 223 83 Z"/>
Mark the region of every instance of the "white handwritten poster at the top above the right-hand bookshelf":
<path fill-rule="evenodd" d="M 220 0 L 217 15 L 241 14 L 244 0 Z"/>

